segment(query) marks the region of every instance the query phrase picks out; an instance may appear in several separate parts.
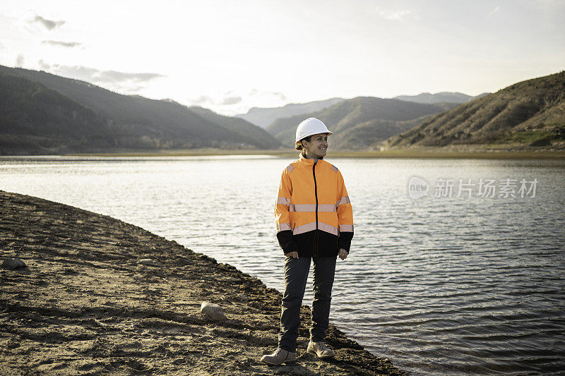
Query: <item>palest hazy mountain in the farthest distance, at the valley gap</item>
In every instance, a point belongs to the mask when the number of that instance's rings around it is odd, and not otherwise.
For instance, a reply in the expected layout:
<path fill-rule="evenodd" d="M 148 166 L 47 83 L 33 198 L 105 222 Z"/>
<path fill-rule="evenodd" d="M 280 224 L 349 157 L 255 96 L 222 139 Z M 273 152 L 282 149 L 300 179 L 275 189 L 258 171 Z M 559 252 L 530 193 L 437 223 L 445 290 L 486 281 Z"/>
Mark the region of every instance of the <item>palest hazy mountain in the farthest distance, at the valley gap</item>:
<path fill-rule="evenodd" d="M 267 126 L 269 126 L 270 123 L 273 123 L 273 121 L 277 119 L 320 111 L 343 100 L 345 99 L 332 98 L 323 101 L 308 102 L 308 103 L 290 103 L 285 105 L 284 107 L 273 107 L 273 108 L 253 107 L 249 109 L 249 111 L 247 111 L 247 114 L 236 115 L 236 117 L 245 119 L 246 121 L 249 121 L 249 123 L 253 123 L 261 128 L 267 128 Z"/>

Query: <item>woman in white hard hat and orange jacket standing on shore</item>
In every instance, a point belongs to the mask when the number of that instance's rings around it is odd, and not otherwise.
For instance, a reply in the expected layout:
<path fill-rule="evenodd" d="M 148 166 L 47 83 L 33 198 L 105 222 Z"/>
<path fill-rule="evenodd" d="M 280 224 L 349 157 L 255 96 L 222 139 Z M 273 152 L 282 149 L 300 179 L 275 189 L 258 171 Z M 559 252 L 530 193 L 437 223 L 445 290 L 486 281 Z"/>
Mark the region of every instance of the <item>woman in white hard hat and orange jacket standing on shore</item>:
<path fill-rule="evenodd" d="M 278 348 L 261 361 L 281 364 L 296 360 L 300 306 L 314 262 L 310 342 L 307 351 L 331 358 L 324 344 L 330 315 L 335 261 L 345 260 L 353 237 L 353 211 L 340 171 L 323 160 L 328 150 L 326 125 L 315 118 L 296 131 L 299 159 L 283 170 L 275 217 L 277 238 L 285 253 L 285 293 L 280 315 Z"/>

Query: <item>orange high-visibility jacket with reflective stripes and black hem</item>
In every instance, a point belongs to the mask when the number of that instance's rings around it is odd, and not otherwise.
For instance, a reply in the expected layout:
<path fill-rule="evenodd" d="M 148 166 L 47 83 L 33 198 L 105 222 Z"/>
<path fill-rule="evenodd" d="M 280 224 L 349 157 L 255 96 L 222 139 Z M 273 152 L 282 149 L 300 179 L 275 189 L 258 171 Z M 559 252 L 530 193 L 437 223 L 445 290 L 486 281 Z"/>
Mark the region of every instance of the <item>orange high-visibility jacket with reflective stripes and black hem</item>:
<path fill-rule="evenodd" d="M 277 238 L 284 253 L 335 256 L 349 252 L 353 209 L 343 176 L 323 159 L 300 158 L 283 170 L 275 205 Z"/>

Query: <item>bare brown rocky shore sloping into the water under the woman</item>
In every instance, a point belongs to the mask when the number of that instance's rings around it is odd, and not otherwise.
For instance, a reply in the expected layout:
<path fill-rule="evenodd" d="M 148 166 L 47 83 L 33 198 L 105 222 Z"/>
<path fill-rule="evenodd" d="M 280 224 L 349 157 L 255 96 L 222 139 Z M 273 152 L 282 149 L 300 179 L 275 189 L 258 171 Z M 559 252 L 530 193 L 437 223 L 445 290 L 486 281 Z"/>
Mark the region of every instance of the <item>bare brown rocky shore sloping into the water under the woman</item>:
<path fill-rule="evenodd" d="M 112 217 L 0 190 L 2 375 L 405 375 L 331 325 L 335 359 L 259 358 L 277 344 L 280 293 L 231 265 Z M 204 301 L 227 320 L 201 313 Z"/>

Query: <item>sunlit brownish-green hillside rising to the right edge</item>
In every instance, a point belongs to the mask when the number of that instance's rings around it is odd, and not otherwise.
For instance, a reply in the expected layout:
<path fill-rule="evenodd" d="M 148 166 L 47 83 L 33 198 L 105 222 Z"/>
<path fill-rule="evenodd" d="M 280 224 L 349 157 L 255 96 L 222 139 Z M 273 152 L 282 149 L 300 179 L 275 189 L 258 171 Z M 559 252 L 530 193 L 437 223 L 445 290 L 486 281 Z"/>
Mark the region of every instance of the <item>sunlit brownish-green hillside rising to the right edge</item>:
<path fill-rule="evenodd" d="M 434 115 L 387 147 L 462 144 L 549 146 L 565 134 L 565 71 L 525 80 Z"/>

